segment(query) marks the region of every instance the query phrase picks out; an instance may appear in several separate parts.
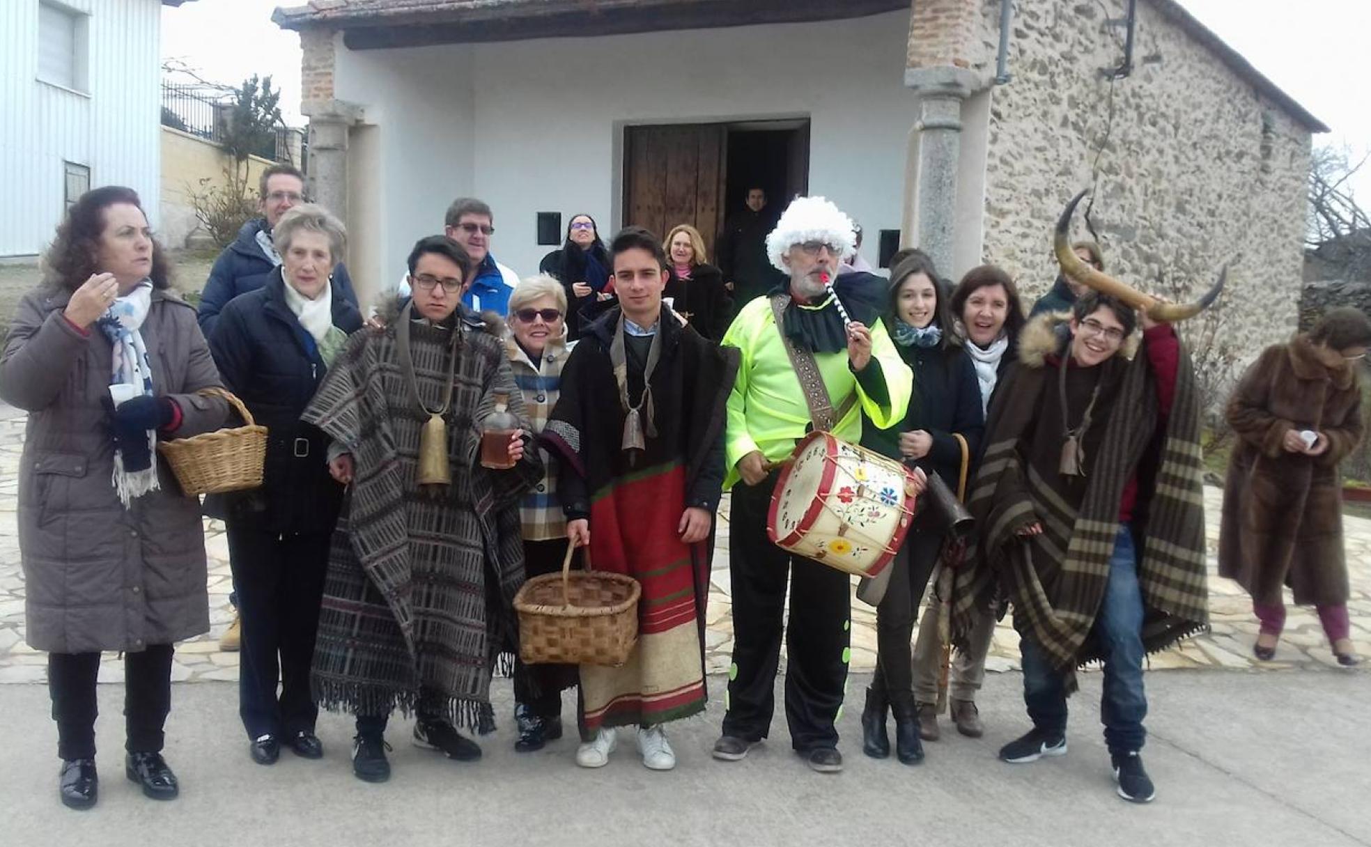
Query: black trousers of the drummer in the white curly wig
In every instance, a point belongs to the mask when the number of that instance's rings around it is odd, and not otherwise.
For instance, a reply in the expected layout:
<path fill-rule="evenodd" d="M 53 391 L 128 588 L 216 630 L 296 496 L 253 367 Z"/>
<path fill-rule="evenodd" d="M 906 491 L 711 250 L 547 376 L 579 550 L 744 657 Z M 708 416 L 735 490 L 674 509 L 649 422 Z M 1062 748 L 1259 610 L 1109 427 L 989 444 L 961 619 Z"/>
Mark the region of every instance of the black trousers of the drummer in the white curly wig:
<path fill-rule="evenodd" d="M 766 537 L 766 510 L 777 474 L 733 487 L 729 584 L 733 663 L 724 735 L 766 737 L 775 709 L 780 639 L 786 632 L 786 722 L 799 751 L 838 746 L 834 721 L 843 704 L 851 643 L 847 574 L 794 556 Z M 790 578 L 790 628 L 783 625 Z"/>

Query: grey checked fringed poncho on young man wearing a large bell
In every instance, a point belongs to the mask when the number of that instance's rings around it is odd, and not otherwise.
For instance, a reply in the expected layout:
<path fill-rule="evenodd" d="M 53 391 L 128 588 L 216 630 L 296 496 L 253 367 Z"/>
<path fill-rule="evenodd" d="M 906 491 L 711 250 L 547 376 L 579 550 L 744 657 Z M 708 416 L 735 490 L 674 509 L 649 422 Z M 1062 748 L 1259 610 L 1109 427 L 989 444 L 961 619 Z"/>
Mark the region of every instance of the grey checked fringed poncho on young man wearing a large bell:
<path fill-rule="evenodd" d="M 450 322 L 465 326 L 410 325 L 415 382 L 429 408 L 441 406 L 457 344 L 446 415 L 452 484 L 441 496 L 420 495 L 414 482 L 426 415 L 400 366 L 393 322 L 348 339 L 303 415 L 355 462 L 333 536 L 311 684 L 325 709 L 422 709 L 484 731 L 491 674 L 518 632 L 518 500 L 542 462 L 529 450 L 510 470 L 478 465 L 478 428 L 496 391 L 509 393 L 525 430 L 528 424 L 498 332 L 461 307 Z"/>

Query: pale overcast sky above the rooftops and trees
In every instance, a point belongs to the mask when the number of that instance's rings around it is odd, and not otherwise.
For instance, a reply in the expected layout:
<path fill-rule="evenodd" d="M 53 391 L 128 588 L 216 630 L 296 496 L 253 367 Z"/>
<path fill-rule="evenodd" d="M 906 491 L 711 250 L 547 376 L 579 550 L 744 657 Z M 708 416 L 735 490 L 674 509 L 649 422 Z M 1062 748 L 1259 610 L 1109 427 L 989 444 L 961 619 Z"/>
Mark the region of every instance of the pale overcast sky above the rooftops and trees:
<path fill-rule="evenodd" d="M 303 5 L 293 0 L 287 5 Z M 1371 0 L 1180 0 L 1259 71 L 1298 100 L 1333 132 L 1315 144 L 1371 149 L 1371 108 L 1366 93 L 1366 40 Z M 1109 0 L 1123 8 L 1121 0 Z M 303 123 L 300 40 L 271 23 L 278 0 L 197 0 L 163 7 L 162 55 L 199 69 L 215 82 L 236 85 L 251 74 L 270 74 L 282 89 L 289 123 Z M 1296 11 L 1294 7 L 1298 7 Z M 1012 70 L 1012 69 L 1010 69 Z M 1357 181 L 1357 196 L 1371 206 L 1371 163 Z"/>

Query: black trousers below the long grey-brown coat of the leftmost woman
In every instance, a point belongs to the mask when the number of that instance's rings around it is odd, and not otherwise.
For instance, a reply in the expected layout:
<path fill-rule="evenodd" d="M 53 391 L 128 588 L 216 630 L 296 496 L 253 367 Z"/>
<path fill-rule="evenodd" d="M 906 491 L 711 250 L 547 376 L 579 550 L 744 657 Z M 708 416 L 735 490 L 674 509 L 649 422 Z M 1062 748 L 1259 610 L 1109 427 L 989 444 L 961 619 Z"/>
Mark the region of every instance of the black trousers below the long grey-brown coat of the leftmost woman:
<path fill-rule="evenodd" d="M 58 722 L 58 755 L 95 758 L 95 687 L 99 652 L 49 652 L 48 695 Z M 151 644 L 123 654 L 123 725 L 129 752 L 162 752 L 162 729 L 171 711 L 171 646 Z"/>

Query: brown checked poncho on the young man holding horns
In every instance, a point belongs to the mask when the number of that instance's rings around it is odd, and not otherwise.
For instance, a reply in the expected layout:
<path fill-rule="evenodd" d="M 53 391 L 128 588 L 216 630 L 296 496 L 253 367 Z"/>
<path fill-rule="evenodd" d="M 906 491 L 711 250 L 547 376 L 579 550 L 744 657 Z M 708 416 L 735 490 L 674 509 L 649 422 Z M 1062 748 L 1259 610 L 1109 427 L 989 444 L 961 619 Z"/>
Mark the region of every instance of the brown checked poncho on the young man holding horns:
<path fill-rule="evenodd" d="M 973 613 L 997 593 L 1009 598 L 1015 626 L 1071 676 L 1095 661 L 1091 637 L 1104 600 L 1124 488 L 1137 476 L 1132 514 L 1142 643 L 1168 647 L 1208 624 L 1200 414 L 1190 359 L 1182 347 L 1171 413 L 1158 426 L 1157 384 L 1148 355 L 1123 355 L 1093 369 L 1071 369 L 1071 425 L 1101 385 L 1093 432 L 1083 450 L 1086 477 L 1060 473 L 1063 421 L 1057 359 L 1058 315 L 1031 323 L 1020 363 L 995 392 L 986 452 L 968 507 L 982 530 L 957 570 L 953 639 L 971 630 Z M 1031 540 L 1016 530 L 1041 521 Z M 1068 678 L 1068 691 L 1073 678 Z"/>

